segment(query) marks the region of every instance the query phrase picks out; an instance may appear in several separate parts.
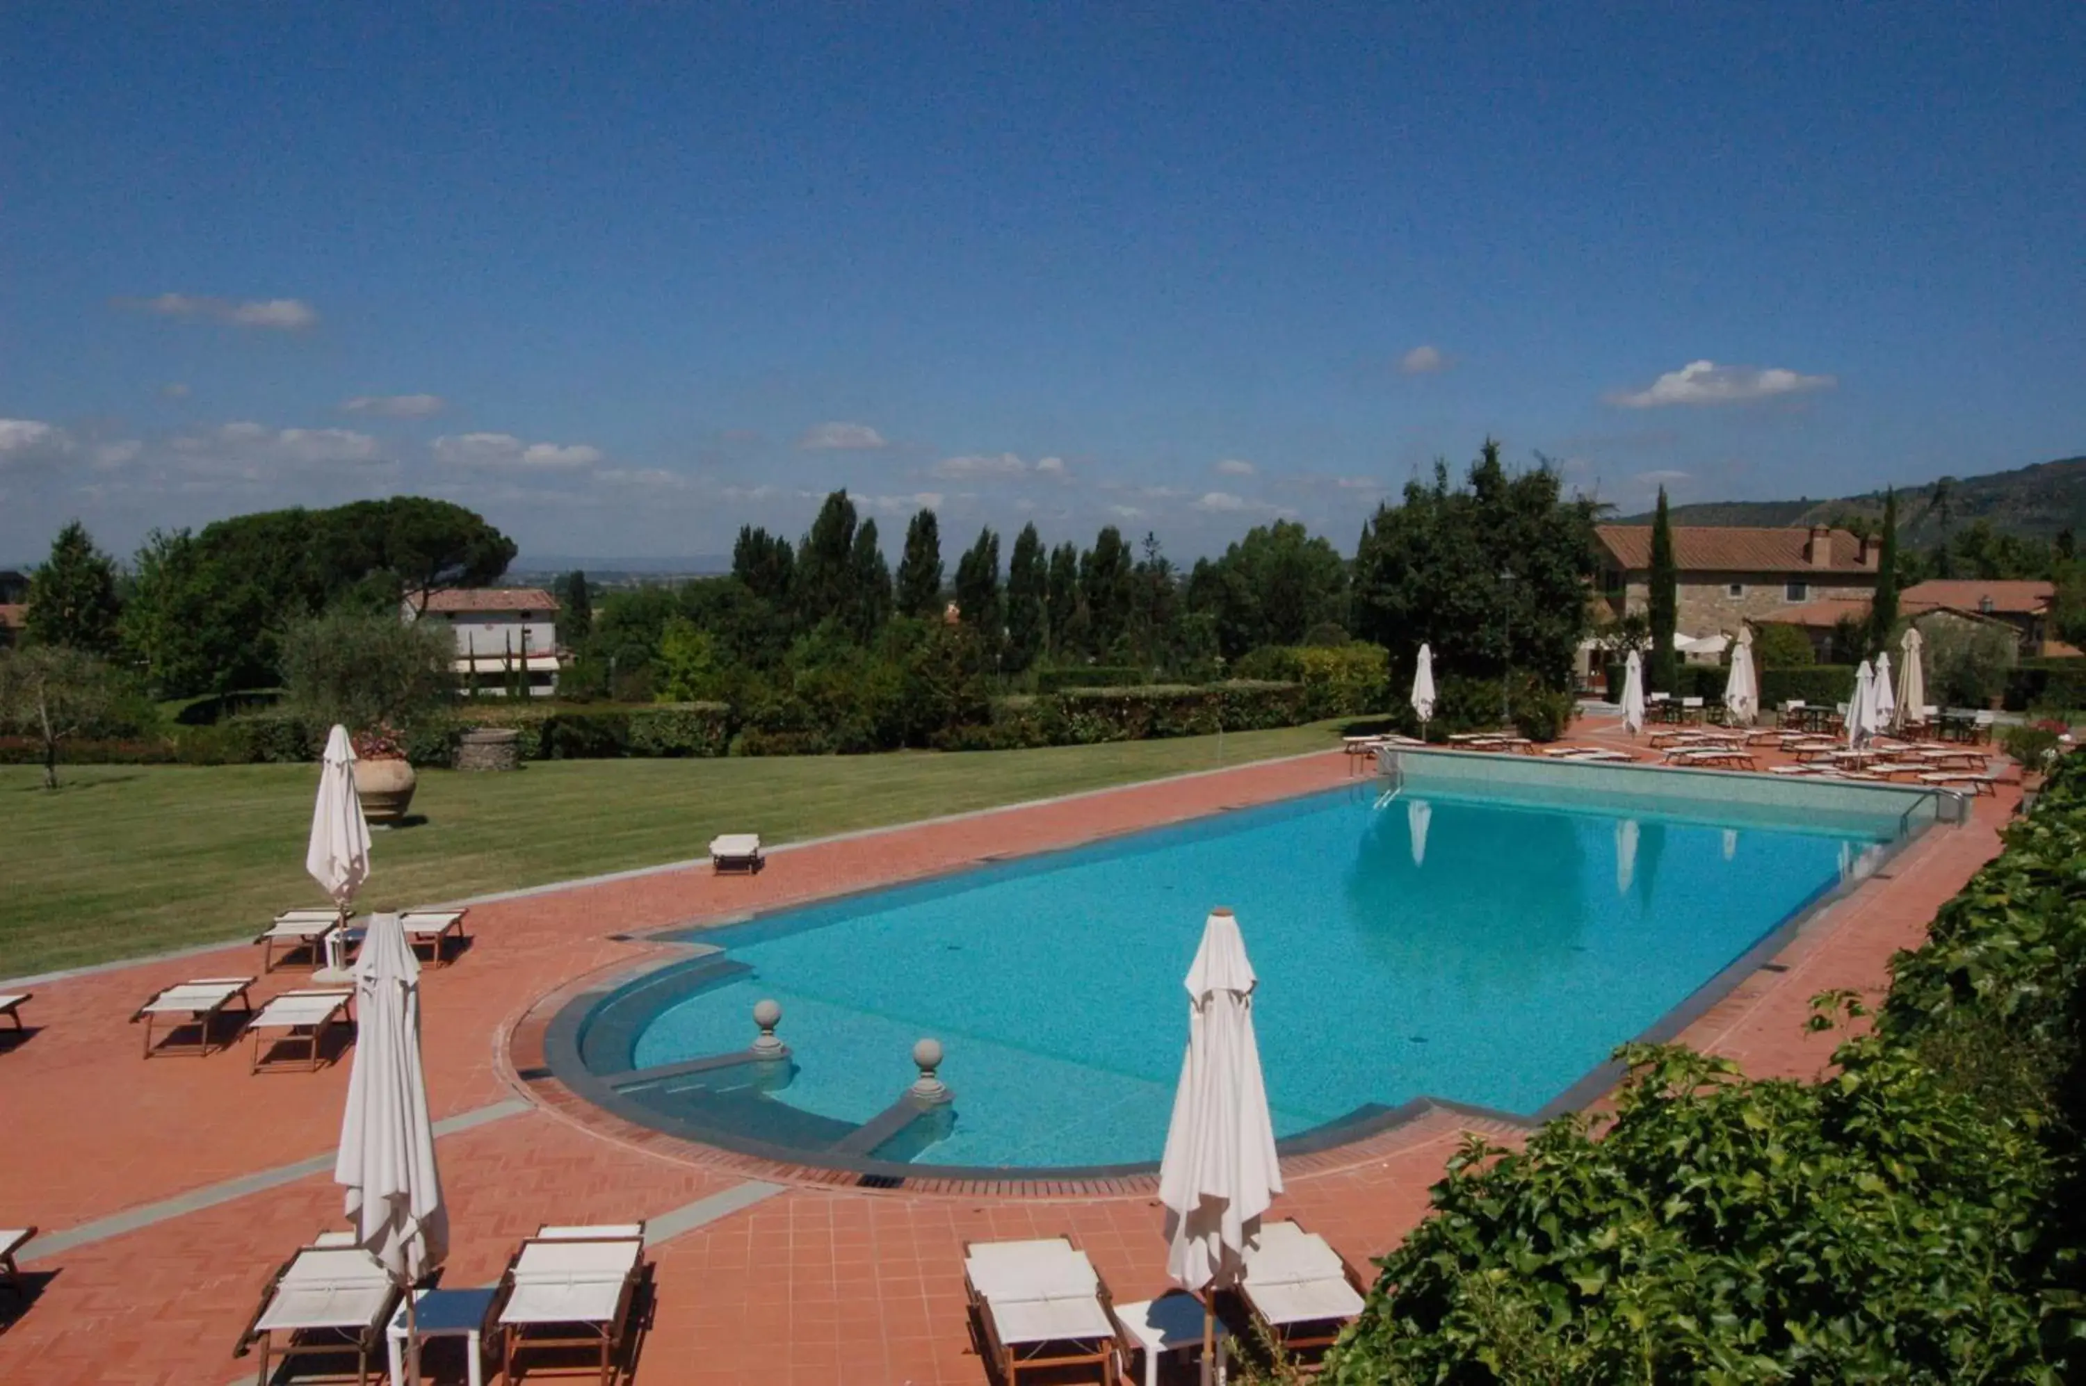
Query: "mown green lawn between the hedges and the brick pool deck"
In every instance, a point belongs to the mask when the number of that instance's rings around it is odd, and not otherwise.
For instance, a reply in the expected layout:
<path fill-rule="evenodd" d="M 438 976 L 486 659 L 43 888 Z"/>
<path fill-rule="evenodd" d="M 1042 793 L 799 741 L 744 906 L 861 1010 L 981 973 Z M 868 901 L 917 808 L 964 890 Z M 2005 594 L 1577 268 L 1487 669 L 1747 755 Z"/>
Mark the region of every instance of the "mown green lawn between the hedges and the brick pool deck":
<path fill-rule="evenodd" d="M 421 771 L 415 817 L 375 834 L 363 898 L 457 898 L 701 857 L 718 832 L 791 842 L 1316 750 L 1335 723 L 1220 738 L 968 754 L 540 761 Z M 317 767 L 0 767 L 0 977 L 259 934 L 315 902 Z"/>

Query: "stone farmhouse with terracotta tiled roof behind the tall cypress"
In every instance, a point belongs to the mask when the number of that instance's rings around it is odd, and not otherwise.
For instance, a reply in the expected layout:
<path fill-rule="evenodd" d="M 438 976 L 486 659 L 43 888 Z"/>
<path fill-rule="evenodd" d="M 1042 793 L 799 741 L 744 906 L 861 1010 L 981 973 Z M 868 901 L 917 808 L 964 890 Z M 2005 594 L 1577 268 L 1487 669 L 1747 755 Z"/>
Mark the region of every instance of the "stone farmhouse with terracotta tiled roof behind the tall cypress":
<path fill-rule="evenodd" d="M 1596 598 L 1617 621 L 1652 600 L 1652 527 L 1596 525 L 1600 577 Z M 1688 640 L 1736 636 L 1752 621 L 1786 621 L 1788 611 L 1823 600 L 1875 594 L 1877 540 L 1846 529 L 1742 529 L 1675 525 L 1675 634 Z"/>

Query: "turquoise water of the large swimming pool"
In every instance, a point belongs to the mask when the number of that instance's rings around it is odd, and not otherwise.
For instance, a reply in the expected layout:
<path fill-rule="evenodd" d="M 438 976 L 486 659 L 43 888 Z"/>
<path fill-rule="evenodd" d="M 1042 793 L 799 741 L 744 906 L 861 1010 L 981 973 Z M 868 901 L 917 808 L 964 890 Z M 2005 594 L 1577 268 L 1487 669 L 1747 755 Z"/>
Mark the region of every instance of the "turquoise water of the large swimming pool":
<path fill-rule="evenodd" d="M 1156 1161 L 1181 977 L 1229 905 L 1260 973 L 1277 1134 L 1414 1096 L 1533 1115 L 1898 832 L 1761 817 L 1410 792 L 1379 807 L 1375 790 L 1218 815 L 690 936 L 753 971 L 653 1017 L 632 1063 L 745 1048 L 772 996 L 795 1063 L 768 1100 L 868 1121 L 932 1036 L 953 1125 L 905 1155 Z"/>

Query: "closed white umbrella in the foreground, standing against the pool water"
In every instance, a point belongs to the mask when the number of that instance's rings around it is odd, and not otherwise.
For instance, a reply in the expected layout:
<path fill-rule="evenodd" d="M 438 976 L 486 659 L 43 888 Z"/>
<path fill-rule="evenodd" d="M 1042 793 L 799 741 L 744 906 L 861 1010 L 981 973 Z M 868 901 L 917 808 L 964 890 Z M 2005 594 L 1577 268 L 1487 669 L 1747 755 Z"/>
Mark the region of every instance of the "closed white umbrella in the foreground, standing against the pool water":
<path fill-rule="evenodd" d="M 1210 1373 L 1210 1294 L 1245 1269 L 1260 1215 L 1283 1192 L 1275 1121 L 1254 1042 L 1254 965 L 1229 909 L 1210 913 L 1187 969 L 1187 1055 L 1174 1090 L 1160 1203 L 1166 1207 L 1166 1273 L 1204 1301 L 1202 1369 Z"/>

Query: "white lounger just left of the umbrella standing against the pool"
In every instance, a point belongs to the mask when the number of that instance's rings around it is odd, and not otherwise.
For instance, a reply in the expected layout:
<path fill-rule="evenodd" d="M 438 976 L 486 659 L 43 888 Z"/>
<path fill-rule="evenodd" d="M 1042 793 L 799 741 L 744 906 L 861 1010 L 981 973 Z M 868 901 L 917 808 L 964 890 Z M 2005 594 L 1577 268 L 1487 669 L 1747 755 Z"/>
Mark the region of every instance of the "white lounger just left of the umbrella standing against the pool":
<path fill-rule="evenodd" d="M 1108 1286 L 1072 1238 L 964 1242 L 964 1296 L 978 1355 L 1001 1386 L 1076 1367 L 1116 1382 L 1129 1344 Z"/>

